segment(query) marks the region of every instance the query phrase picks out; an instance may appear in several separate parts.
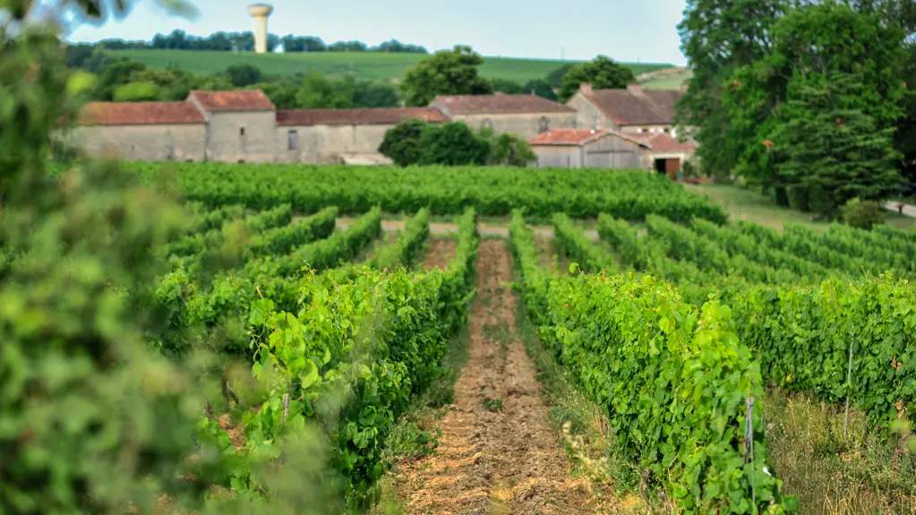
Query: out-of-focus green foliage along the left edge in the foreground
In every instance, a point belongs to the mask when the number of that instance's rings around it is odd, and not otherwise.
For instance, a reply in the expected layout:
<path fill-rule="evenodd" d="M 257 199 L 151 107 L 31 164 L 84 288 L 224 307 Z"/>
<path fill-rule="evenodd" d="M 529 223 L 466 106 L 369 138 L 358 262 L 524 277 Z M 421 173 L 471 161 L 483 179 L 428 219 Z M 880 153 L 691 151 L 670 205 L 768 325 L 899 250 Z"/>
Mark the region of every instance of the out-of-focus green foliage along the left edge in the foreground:
<path fill-rule="evenodd" d="M 129 10 L 59 4 L 100 19 Z M 182 212 L 114 165 L 46 175 L 49 136 L 86 84 L 49 24 L 24 23 L 32 6 L 0 1 L 0 513 L 340 512 L 308 429 L 282 468 L 256 470 L 269 495 L 213 487 L 234 464 L 195 438 L 202 392 L 219 389 L 208 359 L 176 364 L 144 342 L 168 323 L 149 308 L 162 271 L 151 249 Z"/>

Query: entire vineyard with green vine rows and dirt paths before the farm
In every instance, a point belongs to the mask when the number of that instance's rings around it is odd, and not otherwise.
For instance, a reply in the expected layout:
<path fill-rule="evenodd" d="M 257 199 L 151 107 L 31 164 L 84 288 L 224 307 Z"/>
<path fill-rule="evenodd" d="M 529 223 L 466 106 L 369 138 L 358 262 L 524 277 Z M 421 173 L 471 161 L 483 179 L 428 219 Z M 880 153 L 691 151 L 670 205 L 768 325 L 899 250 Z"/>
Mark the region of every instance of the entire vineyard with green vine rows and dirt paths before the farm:
<path fill-rule="evenodd" d="M 147 309 L 164 323 L 144 338 L 220 385 L 179 478 L 213 510 L 271 511 L 277 499 L 289 512 L 380 510 L 388 490 L 405 513 L 916 506 L 909 233 L 731 224 L 640 171 L 121 167 L 180 198 L 180 231 L 150 249 Z M 482 238 L 482 216 L 507 217 L 507 239 Z M 431 231 L 433 217 L 448 234 Z M 3 250 L 4 276 L 31 263 Z M 570 465 L 564 447 L 575 458 L 594 442 L 563 444 L 576 435 L 551 422 L 529 345 L 594 409 L 626 473 L 606 455 Z M 446 400 L 429 401 L 442 389 Z M 891 478 L 856 483 L 866 493 L 846 511 L 806 505 L 805 478 L 783 479 L 798 470 L 771 442 L 790 425 L 769 409 L 777 395 L 851 411 L 852 431 L 886 454 L 848 457 L 849 422 L 815 454 L 869 471 L 892 461 Z M 601 470 L 570 477 L 586 463 Z"/>

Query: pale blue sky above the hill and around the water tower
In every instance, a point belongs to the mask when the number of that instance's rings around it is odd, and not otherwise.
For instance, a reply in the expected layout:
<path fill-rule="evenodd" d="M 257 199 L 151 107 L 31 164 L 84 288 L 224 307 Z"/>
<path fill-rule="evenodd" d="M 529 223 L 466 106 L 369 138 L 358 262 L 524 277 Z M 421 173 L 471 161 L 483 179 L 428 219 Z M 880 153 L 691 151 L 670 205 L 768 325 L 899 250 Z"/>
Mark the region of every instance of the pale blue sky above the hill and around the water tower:
<path fill-rule="evenodd" d="M 171 16 L 138 0 L 124 20 L 83 24 L 71 42 L 104 38 L 150 40 L 179 28 L 190 35 L 252 29 L 249 0 L 191 0 L 196 19 Z M 626 62 L 684 65 L 677 25 L 686 0 L 274 0 L 267 30 L 316 36 L 326 43 L 388 39 L 431 51 L 470 45 L 485 56 L 590 60 L 603 54 Z"/>

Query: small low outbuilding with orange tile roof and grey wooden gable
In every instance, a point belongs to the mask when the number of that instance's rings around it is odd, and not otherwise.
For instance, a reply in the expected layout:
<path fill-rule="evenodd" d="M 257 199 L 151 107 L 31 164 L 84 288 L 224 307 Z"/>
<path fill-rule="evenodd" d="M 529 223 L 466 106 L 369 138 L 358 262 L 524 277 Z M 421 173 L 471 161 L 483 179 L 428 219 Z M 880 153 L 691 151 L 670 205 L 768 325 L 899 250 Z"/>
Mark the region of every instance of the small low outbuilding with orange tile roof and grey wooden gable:
<path fill-rule="evenodd" d="M 554 129 L 529 139 L 538 168 L 640 169 L 646 143 L 609 129 Z"/>

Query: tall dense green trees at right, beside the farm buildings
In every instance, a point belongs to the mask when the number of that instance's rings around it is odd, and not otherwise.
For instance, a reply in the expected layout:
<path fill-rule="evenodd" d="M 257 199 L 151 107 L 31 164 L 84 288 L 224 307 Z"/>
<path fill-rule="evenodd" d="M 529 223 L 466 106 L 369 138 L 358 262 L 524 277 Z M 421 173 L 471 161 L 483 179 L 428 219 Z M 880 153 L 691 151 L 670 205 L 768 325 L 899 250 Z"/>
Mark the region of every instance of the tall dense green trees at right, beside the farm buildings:
<path fill-rule="evenodd" d="M 703 169 L 834 218 L 916 181 L 916 2 L 689 0 L 678 122 Z"/>

